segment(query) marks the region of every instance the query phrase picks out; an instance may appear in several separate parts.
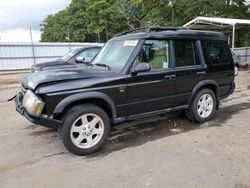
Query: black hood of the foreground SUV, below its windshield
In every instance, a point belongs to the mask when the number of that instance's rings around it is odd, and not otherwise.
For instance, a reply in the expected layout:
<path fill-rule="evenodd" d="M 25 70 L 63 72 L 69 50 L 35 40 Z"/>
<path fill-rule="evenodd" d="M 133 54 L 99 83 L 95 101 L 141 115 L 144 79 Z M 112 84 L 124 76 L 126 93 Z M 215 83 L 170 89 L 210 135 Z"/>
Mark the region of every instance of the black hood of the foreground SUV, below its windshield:
<path fill-rule="evenodd" d="M 35 90 L 40 84 L 103 77 L 110 73 L 111 72 L 104 71 L 103 69 L 91 67 L 42 71 L 25 75 L 22 78 L 22 85 L 24 88 Z"/>

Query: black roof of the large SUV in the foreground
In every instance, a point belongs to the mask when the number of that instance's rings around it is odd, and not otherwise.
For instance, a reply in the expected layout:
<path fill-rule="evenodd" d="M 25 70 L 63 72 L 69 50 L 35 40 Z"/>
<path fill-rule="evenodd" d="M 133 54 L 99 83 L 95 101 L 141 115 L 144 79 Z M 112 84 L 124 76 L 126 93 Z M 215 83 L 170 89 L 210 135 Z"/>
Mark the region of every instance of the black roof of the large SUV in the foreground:
<path fill-rule="evenodd" d="M 209 38 L 209 39 L 225 39 L 221 32 L 199 31 L 190 29 L 166 30 L 159 32 L 139 32 L 118 35 L 111 40 L 127 40 L 127 39 L 149 39 L 149 38 Z"/>

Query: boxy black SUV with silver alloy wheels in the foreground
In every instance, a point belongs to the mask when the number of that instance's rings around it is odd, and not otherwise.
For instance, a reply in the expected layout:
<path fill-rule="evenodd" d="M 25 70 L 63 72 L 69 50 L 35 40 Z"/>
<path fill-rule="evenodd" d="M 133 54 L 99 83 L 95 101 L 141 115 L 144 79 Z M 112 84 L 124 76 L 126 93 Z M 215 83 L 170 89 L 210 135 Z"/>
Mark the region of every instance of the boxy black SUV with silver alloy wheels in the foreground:
<path fill-rule="evenodd" d="M 222 33 L 149 27 L 115 36 L 86 68 L 26 75 L 16 109 L 58 129 L 70 152 L 86 155 L 127 120 L 176 110 L 199 123 L 211 120 L 234 88 Z"/>

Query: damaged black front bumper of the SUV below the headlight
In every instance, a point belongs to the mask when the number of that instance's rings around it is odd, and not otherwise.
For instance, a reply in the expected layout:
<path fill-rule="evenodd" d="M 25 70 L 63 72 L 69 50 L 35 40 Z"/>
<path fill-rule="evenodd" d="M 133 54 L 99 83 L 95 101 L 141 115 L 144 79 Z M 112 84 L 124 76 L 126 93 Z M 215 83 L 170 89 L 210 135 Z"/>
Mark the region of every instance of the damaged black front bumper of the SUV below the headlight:
<path fill-rule="evenodd" d="M 34 124 L 42 125 L 45 127 L 57 129 L 59 126 L 61 126 L 63 123 L 60 120 L 55 120 L 52 118 L 47 118 L 44 116 L 41 116 L 39 118 L 34 117 L 23 108 L 22 106 L 22 99 L 23 99 L 23 94 L 20 92 L 16 96 L 16 111 L 19 112 L 22 116 L 24 116 L 27 120 Z"/>

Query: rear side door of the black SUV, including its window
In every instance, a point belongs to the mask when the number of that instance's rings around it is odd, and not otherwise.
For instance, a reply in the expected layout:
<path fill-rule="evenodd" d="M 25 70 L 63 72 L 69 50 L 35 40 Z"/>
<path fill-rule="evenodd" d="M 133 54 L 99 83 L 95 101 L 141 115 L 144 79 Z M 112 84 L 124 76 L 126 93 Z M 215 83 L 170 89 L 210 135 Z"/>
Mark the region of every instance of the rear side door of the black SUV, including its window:
<path fill-rule="evenodd" d="M 176 72 L 176 106 L 186 105 L 192 89 L 206 79 L 201 44 L 196 40 L 173 40 Z"/>

